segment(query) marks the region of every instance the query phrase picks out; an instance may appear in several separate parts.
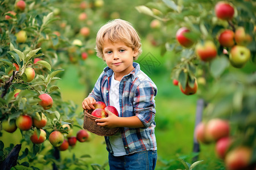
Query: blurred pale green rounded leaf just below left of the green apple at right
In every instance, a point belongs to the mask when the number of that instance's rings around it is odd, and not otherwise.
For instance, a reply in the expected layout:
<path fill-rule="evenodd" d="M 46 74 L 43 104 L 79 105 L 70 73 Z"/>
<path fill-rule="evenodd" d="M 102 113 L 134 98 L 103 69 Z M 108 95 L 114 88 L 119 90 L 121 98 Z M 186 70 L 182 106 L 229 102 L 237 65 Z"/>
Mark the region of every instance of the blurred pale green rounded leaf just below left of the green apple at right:
<path fill-rule="evenodd" d="M 214 76 L 214 78 L 218 78 L 229 66 L 228 58 L 222 56 L 213 59 L 210 63 L 210 74 Z"/>

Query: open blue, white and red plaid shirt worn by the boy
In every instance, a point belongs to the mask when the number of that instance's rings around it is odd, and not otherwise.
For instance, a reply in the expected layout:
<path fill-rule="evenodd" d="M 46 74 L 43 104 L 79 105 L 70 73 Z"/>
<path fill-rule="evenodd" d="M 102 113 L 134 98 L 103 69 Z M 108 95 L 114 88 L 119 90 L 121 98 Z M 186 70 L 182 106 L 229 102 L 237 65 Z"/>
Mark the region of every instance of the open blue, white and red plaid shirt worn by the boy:
<path fill-rule="evenodd" d="M 126 154 L 156 150 L 155 139 L 155 96 L 157 88 L 152 80 L 133 62 L 134 70 L 123 76 L 119 84 L 120 116 L 137 116 L 144 128 L 120 128 Z M 110 78 L 113 70 L 106 67 L 89 94 L 96 101 L 109 105 Z M 113 153 L 109 137 L 105 137 L 106 148 Z"/>

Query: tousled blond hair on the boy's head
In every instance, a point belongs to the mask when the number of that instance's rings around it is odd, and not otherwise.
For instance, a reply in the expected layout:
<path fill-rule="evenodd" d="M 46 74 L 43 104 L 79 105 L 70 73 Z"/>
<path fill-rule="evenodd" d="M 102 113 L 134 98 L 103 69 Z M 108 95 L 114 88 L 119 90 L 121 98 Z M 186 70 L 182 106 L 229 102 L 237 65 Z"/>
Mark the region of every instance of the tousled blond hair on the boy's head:
<path fill-rule="evenodd" d="M 105 37 L 113 43 L 122 41 L 133 50 L 138 51 L 138 55 L 133 58 L 134 60 L 142 53 L 141 39 L 139 38 L 137 31 L 133 28 L 131 23 L 125 20 L 110 20 L 98 31 L 96 37 L 96 52 L 97 56 L 100 58 L 103 57 L 102 48 Z"/>

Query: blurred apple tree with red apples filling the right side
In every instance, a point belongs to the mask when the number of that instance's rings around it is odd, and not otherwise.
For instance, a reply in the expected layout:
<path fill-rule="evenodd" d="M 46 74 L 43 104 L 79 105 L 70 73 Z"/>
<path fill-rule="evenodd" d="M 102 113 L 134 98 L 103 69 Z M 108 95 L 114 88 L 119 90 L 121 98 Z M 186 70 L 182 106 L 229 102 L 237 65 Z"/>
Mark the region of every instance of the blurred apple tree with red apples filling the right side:
<path fill-rule="evenodd" d="M 137 6 L 162 25 L 152 36 L 162 54 L 171 53 L 174 84 L 203 100 L 197 142 L 215 143 L 228 169 L 254 169 L 256 164 L 255 7 L 254 1 L 215 0 Z"/>

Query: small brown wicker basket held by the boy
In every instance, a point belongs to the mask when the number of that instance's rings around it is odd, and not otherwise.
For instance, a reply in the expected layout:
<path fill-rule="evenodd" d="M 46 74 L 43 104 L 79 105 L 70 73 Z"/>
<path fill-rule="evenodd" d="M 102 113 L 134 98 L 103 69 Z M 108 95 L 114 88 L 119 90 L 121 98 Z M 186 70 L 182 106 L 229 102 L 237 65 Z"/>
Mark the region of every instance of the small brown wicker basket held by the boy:
<path fill-rule="evenodd" d="M 98 119 L 98 117 L 92 116 L 92 114 L 90 114 L 92 110 L 88 112 L 84 110 L 84 129 L 100 136 L 112 136 L 119 130 L 119 128 L 106 128 L 97 125 L 95 120 Z"/>

